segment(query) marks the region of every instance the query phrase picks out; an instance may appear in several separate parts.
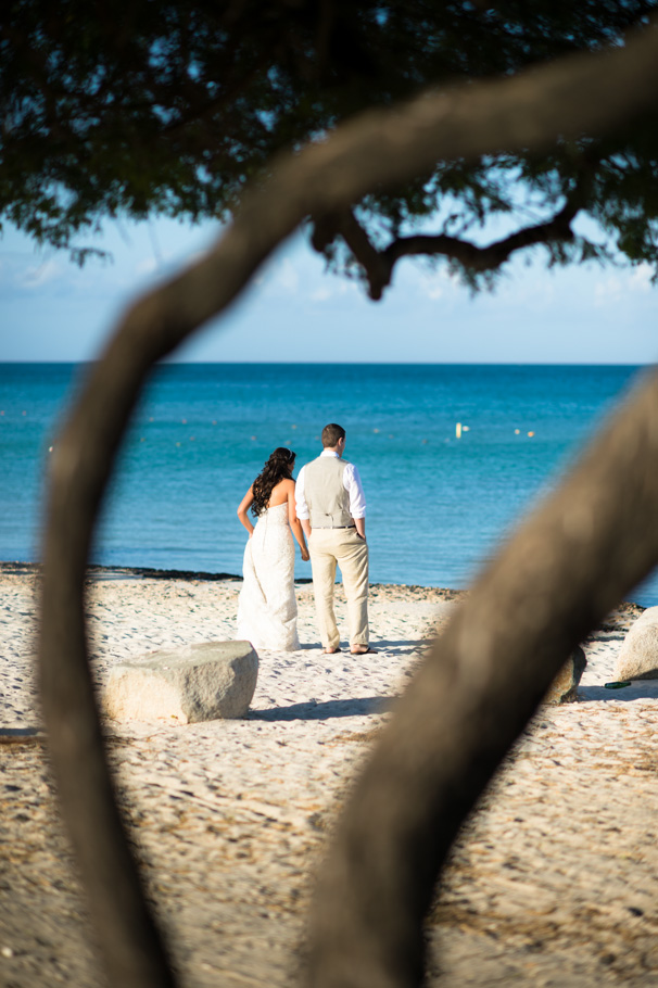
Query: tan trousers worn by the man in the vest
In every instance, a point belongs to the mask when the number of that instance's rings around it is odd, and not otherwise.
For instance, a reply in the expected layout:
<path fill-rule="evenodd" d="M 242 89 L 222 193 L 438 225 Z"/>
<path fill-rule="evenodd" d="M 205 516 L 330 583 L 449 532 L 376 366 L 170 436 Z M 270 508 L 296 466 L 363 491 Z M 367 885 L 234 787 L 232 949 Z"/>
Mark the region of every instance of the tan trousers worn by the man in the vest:
<path fill-rule="evenodd" d="M 336 567 L 340 567 L 347 598 L 350 645 L 368 644 L 368 544 L 356 529 L 312 529 L 308 540 L 315 607 L 325 648 L 338 648 L 340 635 L 333 610 Z"/>

